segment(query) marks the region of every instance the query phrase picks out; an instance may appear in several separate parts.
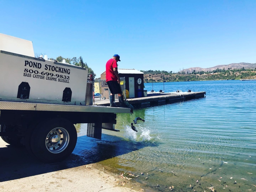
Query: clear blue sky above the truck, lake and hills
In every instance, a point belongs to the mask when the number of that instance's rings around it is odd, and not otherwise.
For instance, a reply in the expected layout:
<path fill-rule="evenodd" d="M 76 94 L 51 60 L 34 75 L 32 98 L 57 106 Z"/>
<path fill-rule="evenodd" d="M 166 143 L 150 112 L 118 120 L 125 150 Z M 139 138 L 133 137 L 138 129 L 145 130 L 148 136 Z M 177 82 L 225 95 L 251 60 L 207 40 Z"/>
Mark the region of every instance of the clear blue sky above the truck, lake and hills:
<path fill-rule="evenodd" d="M 119 68 L 177 72 L 256 63 L 256 1 L 3 1 L 0 33 L 35 53 L 79 57 L 100 77 Z"/>

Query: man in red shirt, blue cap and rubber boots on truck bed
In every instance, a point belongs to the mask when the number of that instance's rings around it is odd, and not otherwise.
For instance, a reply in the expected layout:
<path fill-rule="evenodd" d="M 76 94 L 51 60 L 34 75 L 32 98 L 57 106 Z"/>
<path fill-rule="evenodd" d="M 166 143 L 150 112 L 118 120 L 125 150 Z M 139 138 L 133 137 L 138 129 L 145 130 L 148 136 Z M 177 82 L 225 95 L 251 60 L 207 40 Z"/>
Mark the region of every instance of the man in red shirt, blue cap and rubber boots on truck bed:
<path fill-rule="evenodd" d="M 110 106 L 118 107 L 114 104 L 114 94 L 118 94 L 118 100 L 120 107 L 126 107 L 124 104 L 124 97 L 120 87 L 120 77 L 117 70 L 117 62 L 121 61 L 120 56 L 115 54 L 110 60 L 106 63 L 106 82 L 108 83 L 110 90 Z"/>

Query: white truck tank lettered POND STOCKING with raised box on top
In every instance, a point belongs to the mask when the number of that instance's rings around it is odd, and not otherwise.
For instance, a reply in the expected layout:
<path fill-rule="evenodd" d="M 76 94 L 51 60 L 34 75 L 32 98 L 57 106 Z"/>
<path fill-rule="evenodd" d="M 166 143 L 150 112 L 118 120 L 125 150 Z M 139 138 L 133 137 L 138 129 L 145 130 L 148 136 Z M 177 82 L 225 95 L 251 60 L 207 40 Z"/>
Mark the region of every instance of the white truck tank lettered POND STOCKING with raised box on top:
<path fill-rule="evenodd" d="M 86 68 L 35 58 L 31 41 L 0 34 L 0 101 L 85 105 L 87 75 Z"/>

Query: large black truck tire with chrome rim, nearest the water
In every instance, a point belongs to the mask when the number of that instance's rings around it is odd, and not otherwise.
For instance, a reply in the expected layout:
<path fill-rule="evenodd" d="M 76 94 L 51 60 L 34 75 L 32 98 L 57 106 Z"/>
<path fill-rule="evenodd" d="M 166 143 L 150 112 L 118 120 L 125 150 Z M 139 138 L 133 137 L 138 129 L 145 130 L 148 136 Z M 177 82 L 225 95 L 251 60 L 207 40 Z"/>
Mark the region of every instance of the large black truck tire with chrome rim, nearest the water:
<path fill-rule="evenodd" d="M 70 121 L 55 118 L 38 123 L 31 136 L 31 150 L 43 162 L 67 158 L 77 143 L 77 131 Z"/>

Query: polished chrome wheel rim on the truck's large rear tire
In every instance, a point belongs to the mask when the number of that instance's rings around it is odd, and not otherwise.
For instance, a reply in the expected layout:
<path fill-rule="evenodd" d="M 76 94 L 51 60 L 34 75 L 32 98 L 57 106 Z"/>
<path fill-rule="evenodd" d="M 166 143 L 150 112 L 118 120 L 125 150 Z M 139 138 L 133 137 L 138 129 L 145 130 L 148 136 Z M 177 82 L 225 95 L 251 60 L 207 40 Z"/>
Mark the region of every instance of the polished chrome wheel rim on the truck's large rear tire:
<path fill-rule="evenodd" d="M 68 131 L 62 127 L 52 129 L 46 137 L 45 145 L 51 153 L 61 153 L 69 143 Z"/>

